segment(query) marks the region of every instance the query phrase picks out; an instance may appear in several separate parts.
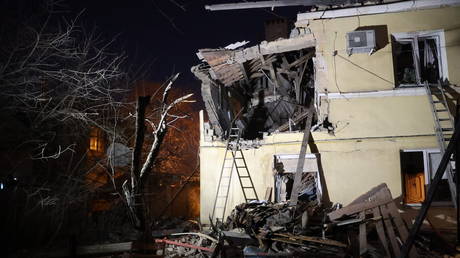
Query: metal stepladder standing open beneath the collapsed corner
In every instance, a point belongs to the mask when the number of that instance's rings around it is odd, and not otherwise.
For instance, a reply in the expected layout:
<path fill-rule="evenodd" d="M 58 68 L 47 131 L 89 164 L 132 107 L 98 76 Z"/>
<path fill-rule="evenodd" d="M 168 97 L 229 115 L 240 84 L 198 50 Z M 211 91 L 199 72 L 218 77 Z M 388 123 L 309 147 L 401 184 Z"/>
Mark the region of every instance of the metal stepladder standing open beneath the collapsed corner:
<path fill-rule="evenodd" d="M 240 129 L 231 128 L 227 139 L 224 162 L 222 163 L 216 198 L 214 199 L 214 206 L 212 209 L 211 220 L 213 221 L 217 219 L 220 221 L 224 220 L 234 169 L 238 175 L 246 202 L 259 200 L 251 175 L 249 174 L 246 160 L 244 159 L 243 151 L 239 147 L 240 138 Z"/>

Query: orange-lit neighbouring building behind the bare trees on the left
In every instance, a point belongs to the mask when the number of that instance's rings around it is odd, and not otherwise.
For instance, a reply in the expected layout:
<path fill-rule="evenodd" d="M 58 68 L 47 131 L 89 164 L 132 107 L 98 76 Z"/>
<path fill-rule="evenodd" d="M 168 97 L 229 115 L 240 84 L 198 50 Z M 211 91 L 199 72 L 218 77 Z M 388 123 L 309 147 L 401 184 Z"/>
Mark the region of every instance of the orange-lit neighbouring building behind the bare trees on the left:
<path fill-rule="evenodd" d="M 90 128 L 87 142 L 89 168 L 85 177 L 89 186 L 93 189 L 98 188 L 98 193 L 103 193 L 93 201 L 91 205 L 93 211 L 110 210 L 119 201 L 119 196 L 112 193 L 117 188 L 121 189 L 123 182 L 129 179 L 132 148 L 128 146 L 134 145 L 132 142 L 134 119 L 129 119 L 129 113 L 134 112 L 134 103 L 138 97 L 153 96 L 147 107 L 146 116 L 155 121 L 158 117 L 156 107 L 159 106 L 163 96 L 163 86 L 161 83 L 148 81 L 139 81 L 133 85 L 132 91 L 124 99 L 127 104 L 126 109 L 121 111 L 122 114 L 117 121 L 117 134 L 125 142 L 112 143 L 108 141 L 102 129 Z M 169 94 L 170 99 L 176 99 L 182 96 L 183 92 L 173 87 Z M 168 129 L 146 185 L 146 192 L 150 197 L 148 206 L 154 217 L 163 213 L 161 214 L 163 216 L 195 219 L 199 214 L 200 198 L 199 173 L 195 171 L 199 170 L 196 154 L 198 115 L 190 104 L 179 105 L 175 112 L 189 117 L 179 119 Z M 151 127 L 147 127 L 141 162 L 145 159 L 153 141 L 150 136 L 151 130 Z M 108 160 L 113 165 L 113 169 L 107 165 Z M 114 177 L 113 182 L 110 176 Z"/>

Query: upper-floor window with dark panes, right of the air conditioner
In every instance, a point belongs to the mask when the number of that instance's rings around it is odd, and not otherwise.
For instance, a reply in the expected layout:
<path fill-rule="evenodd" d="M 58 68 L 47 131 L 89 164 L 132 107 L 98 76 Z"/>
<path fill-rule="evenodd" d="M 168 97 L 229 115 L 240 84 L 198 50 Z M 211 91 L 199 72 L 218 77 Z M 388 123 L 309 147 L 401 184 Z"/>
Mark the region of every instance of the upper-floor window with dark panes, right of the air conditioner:
<path fill-rule="evenodd" d="M 396 33 L 393 36 L 398 86 L 438 83 L 447 78 L 443 31 Z"/>

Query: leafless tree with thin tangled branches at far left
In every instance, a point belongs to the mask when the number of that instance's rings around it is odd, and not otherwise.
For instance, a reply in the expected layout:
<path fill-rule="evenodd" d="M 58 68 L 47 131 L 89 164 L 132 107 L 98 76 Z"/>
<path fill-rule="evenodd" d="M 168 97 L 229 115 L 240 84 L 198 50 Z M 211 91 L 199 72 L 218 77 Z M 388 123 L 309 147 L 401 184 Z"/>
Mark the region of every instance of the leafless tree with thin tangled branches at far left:
<path fill-rule="evenodd" d="M 5 19 L 0 30 L 0 180 L 17 182 L 4 189 L 15 200 L 5 207 L 6 221 L 14 220 L 7 226 L 16 230 L 27 216 L 45 214 L 53 238 L 93 193 L 85 175 L 100 163 L 88 162 L 89 131 L 120 137 L 129 80 L 125 57 L 111 53 L 110 44 L 74 21 L 50 26 L 59 18 L 45 16 L 35 23 Z"/>

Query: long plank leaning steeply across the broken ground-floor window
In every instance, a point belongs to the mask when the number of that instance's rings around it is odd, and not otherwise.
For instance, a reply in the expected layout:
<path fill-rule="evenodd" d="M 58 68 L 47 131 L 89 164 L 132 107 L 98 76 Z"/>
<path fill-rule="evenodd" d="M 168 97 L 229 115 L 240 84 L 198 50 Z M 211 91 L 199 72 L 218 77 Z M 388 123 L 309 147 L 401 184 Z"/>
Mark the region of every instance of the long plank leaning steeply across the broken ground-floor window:
<path fill-rule="evenodd" d="M 302 145 L 300 147 L 300 154 L 299 154 L 299 160 L 297 162 L 297 169 L 295 172 L 294 176 L 294 183 L 292 185 L 292 192 L 291 192 L 291 198 L 289 200 L 289 205 L 295 206 L 297 205 L 297 200 L 299 199 L 299 192 L 300 192 L 300 184 L 302 183 L 302 172 L 303 172 L 303 166 L 305 163 L 305 154 L 307 153 L 307 145 L 308 145 L 308 139 L 310 138 L 310 129 L 311 129 L 311 121 L 313 118 L 313 101 L 310 103 L 310 106 L 308 107 L 308 117 L 305 122 L 305 130 L 303 132 L 303 139 L 302 139 Z"/>

